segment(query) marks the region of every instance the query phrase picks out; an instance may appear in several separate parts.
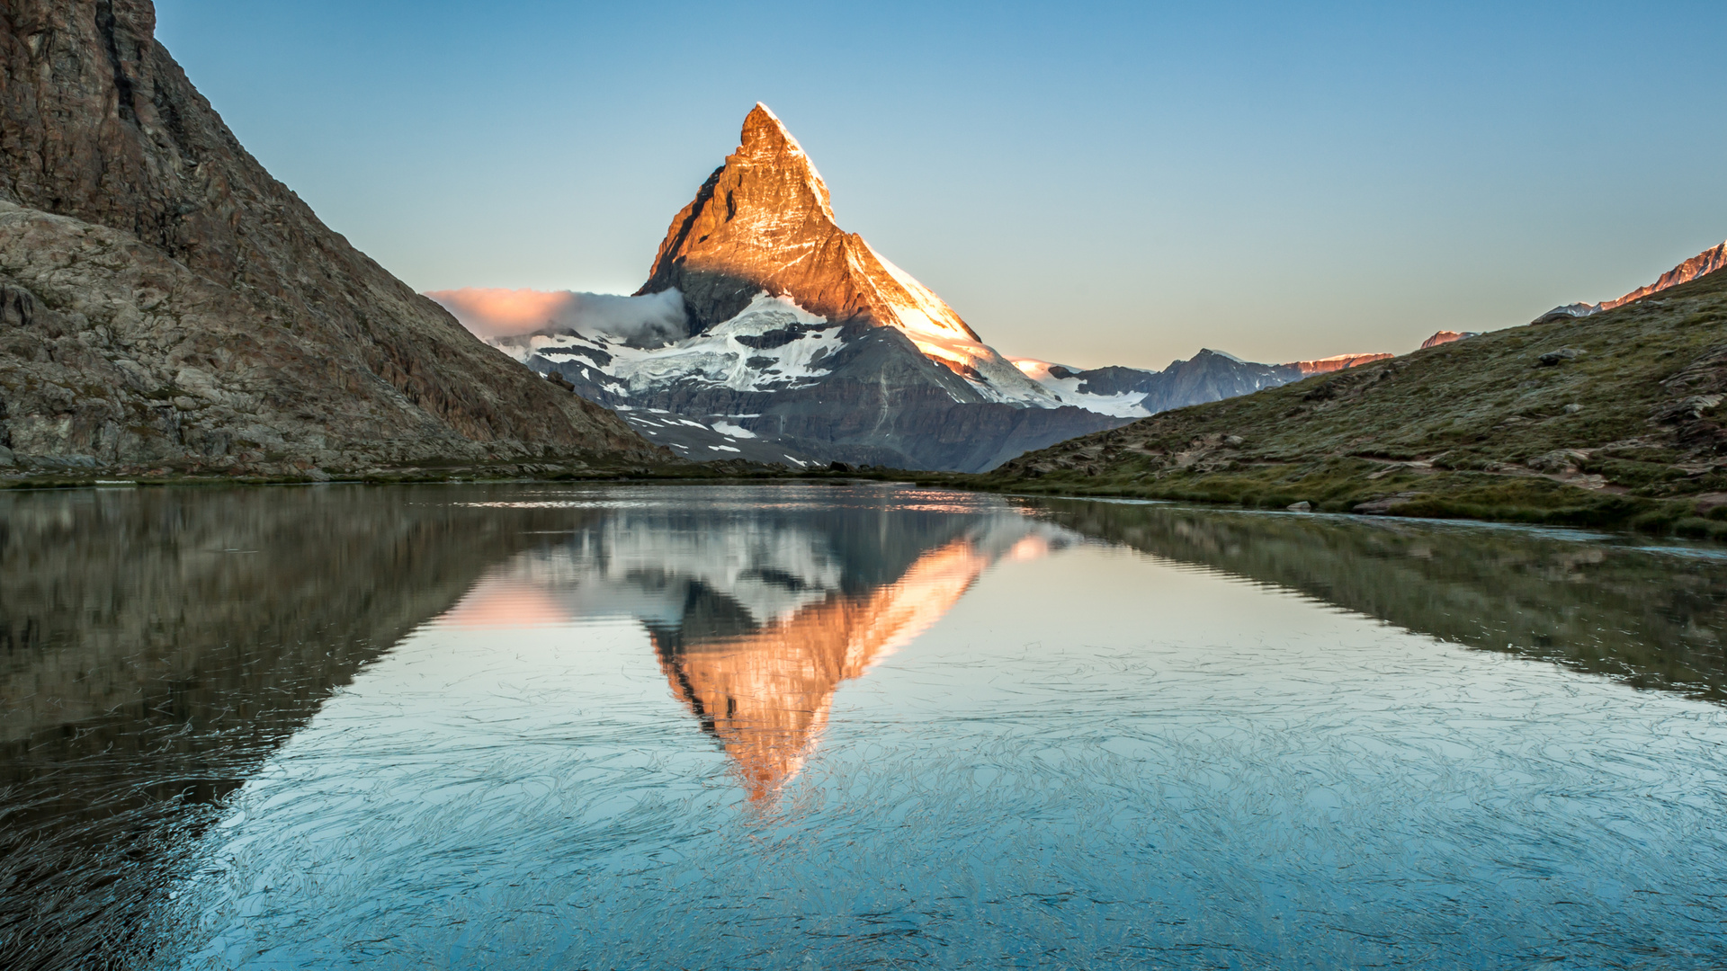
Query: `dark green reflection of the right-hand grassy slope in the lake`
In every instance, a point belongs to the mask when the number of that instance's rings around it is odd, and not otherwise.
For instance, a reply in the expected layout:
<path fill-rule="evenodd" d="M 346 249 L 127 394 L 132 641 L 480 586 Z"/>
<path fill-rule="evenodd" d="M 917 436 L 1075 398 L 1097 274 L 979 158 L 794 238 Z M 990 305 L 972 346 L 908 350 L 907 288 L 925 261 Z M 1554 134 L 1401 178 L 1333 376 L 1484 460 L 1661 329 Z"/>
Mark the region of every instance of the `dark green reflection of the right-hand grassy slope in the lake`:
<path fill-rule="evenodd" d="M 1062 527 L 1414 634 L 1727 700 L 1727 549 L 1582 532 L 1050 499 Z"/>

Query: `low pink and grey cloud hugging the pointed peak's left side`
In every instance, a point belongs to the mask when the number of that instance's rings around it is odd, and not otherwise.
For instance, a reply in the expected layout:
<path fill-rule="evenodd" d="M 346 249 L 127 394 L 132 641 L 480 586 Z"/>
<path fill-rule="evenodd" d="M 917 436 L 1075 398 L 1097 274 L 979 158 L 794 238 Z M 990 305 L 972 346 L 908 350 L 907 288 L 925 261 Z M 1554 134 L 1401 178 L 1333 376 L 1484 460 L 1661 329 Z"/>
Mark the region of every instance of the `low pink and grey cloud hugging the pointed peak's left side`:
<path fill-rule="evenodd" d="M 515 337 L 535 330 L 606 333 L 641 347 L 689 337 L 684 294 L 661 290 L 646 297 L 577 294 L 573 290 L 496 290 L 463 287 L 430 290 L 477 337 Z"/>

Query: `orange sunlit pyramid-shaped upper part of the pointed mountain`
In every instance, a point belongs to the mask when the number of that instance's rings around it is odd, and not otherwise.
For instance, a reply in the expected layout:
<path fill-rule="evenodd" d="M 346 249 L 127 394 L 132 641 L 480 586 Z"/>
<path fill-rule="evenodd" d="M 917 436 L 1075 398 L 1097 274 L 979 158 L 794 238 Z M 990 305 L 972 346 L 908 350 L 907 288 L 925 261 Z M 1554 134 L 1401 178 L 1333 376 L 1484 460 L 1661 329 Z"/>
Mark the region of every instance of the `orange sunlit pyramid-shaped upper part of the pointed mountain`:
<path fill-rule="evenodd" d="M 760 102 L 737 150 L 672 219 L 637 295 L 670 289 L 684 294 L 691 333 L 737 316 L 758 294 L 789 297 L 834 323 L 900 330 L 988 401 L 1057 404 L 929 287 L 839 228 L 810 155 Z"/>

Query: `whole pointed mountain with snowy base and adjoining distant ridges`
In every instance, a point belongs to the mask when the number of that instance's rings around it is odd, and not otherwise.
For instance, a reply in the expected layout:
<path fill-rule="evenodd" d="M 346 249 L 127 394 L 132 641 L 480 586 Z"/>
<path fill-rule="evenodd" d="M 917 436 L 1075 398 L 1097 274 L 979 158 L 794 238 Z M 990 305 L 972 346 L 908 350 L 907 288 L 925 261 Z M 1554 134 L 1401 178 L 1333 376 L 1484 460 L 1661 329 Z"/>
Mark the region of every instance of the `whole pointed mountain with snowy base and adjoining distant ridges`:
<path fill-rule="evenodd" d="M 428 295 L 679 454 L 796 466 L 983 472 L 1167 408 L 1389 356 L 1256 365 L 1200 351 L 1162 371 L 1009 359 L 839 228 L 810 157 L 760 104 L 737 150 L 672 219 L 636 294 L 651 304 L 501 333 L 499 308 L 546 295 Z M 655 316 L 668 306 L 682 318 Z"/>

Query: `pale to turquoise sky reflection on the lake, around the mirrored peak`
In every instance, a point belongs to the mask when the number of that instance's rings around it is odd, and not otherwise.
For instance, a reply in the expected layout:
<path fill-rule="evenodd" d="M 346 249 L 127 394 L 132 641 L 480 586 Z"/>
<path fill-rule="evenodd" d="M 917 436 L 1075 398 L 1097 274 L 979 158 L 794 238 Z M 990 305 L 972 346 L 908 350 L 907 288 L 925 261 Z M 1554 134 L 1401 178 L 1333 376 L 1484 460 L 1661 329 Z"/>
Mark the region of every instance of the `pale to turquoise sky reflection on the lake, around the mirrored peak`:
<path fill-rule="evenodd" d="M 993 563 L 839 686 L 767 814 L 641 624 L 470 600 L 245 786 L 188 940 L 256 968 L 1727 959 L 1718 705 L 1121 549 Z"/>

